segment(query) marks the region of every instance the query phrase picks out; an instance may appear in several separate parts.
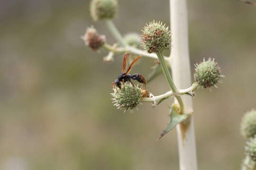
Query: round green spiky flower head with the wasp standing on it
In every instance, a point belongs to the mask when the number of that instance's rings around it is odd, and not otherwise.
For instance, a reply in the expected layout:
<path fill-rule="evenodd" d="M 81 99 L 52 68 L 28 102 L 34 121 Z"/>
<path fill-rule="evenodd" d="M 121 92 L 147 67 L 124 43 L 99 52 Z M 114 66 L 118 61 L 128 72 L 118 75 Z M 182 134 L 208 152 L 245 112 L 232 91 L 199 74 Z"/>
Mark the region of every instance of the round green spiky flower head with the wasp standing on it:
<path fill-rule="evenodd" d="M 142 90 L 138 86 L 133 87 L 130 83 L 126 83 L 125 87 L 121 85 L 121 89 L 113 88 L 114 93 L 110 93 L 113 102 L 118 109 L 125 109 L 133 111 L 140 104 L 142 98 L 145 96 L 145 90 Z"/>

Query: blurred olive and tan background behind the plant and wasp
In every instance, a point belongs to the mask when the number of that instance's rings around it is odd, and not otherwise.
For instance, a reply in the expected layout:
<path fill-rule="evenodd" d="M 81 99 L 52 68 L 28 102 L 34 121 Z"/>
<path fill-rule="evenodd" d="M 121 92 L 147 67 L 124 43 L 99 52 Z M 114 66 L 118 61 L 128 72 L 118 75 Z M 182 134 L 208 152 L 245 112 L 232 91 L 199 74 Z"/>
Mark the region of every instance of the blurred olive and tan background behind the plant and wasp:
<path fill-rule="evenodd" d="M 80 36 L 94 25 L 90 0 L 0 1 L 1 170 L 178 170 L 176 131 L 159 142 L 167 105 L 143 103 L 123 113 L 111 103 L 110 83 L 121 55 L 103 63 Z M 223 84 L 194 98 L 200 170 L 238 170 L 245 140 L 244 112 L 256 108 L 256 8 L 236 0 L 188 0 L 191 66 L 215 58 Z M 169 0 L 119 0 L 114 23 L 122 34 L 145 23 L 169 22 Z M 143 58 L 132 72 L 148 75 Z M 193 72 L 193 71 L 192 71 Z M 155 95 L 169 88 L 164 76 L 148 85 Z"/>

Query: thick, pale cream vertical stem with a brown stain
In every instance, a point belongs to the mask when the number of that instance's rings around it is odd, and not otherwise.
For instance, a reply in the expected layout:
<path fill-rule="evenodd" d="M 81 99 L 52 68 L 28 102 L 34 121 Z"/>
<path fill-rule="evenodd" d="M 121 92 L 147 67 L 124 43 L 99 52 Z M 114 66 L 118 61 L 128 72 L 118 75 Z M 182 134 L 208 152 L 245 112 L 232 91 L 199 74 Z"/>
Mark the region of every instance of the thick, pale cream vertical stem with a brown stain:
<path fill-rule="evenodd" d="M 175 85 L 183 89 L 191 85 L 186 0 L 170 0 L 170 12 L 174 42 L 170 64 Z M 192 98 L 182 96 L 182 100 L 185 114 L 192 112 Z M 197 170 L 193 116 L 177 126 L 177 136 L 180 170 Z"/>

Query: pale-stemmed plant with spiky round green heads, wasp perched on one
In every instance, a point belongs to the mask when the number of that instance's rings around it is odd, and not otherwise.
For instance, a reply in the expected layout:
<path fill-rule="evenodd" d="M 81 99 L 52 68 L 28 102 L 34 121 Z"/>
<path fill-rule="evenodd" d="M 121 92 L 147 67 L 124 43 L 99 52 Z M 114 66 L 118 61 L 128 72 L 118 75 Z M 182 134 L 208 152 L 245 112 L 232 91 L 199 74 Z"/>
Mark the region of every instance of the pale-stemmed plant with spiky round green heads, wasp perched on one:
<path fill-rule="evenodd" d="M 107 57 L 103 59 L 104 61 L 113 61 L 116 53 L 125 52 L 149 59 L 158 59 L 159 62 L 156 63 L 154 70 L 146 79 L 151 82 L 159 73 L 163 72 L 170 86 L 170 91 L 154 96 L 154 89 L 148 89 L 149 93 L 147 93 L 146 89 L 125 83 L 127 80 L 124 80 L 120 88 L 113 87 L 111 96 L 114 105 L 118 109 L 133 111 L 141 102 L 152 102 L 152 106 L 155 107 L 164 100 L 174 97 L 175 102 L 171 104 L 169 112 L 169 124 L 158 139 L 177 126 L 180 168 L 181 170 L 197 170 L 192 98 L 200 86 L 203 88 L 216 86 L 222 75 L 219 65 L 214 59 L 203 59 L 200 64 L 196 65 L 195 82 L 191 83 L 186 0 L 170 0 L 170 3 L 172 34 L 171 30 L 161 21 L 153 20 L 145 25 L 140 38 L 136 34 L 128 34 L 123 37 L 111 20 L 116 15 L 116 0 L 91 0 L 91 16 L 94 21 L 104 20 L 110 33 L 117 40 L 113 45 L 106 41 L 100 43 L 99 47 L 109 51 Z M 143 50 L 139 49 L 139 40 Z M 172 55 L 164 56 L 163 51 L 170 50 L 171 47 L 173 47 Z M 170 69 L 173 75 L 170 74 Z M 180 77 L 185 77 L 186 81 Z M 184 95 L 189 95 L 191 98 L 184 100 Z M 180 128 L 181 125 L 183 126 L 182 129 Z"/>

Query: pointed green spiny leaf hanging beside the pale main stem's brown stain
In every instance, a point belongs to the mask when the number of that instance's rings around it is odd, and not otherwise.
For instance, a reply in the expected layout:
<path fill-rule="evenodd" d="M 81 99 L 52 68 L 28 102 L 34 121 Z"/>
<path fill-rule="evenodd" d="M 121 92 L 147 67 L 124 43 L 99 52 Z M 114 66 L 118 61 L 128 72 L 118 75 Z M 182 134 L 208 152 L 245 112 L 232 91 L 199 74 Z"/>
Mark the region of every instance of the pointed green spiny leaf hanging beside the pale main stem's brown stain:
<path fill-rule="evenodd" d="M 179 123 L 181 123 L 183 120 L 187 119 L 187 117 L 189 116 L 189 114 L 179 114 L 178 113 L 178 108 L 177 106 L 174 104 L 171 108 L 170 108 L 170 122 L 167 125 L 166 129 L 163 131 L 163 133 L 161 133 L 161 135 L 157 138 L 157 141 L 162 138 L 163 136 L 165 136 L 165 134 L 167 134 L 170 130 L 172 130 L 175 126 L 177 126 Z"/>

